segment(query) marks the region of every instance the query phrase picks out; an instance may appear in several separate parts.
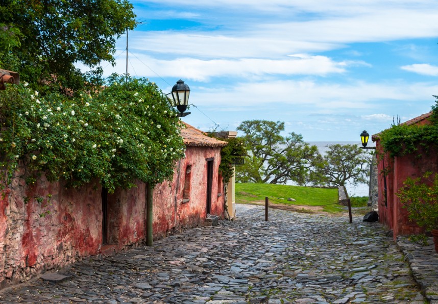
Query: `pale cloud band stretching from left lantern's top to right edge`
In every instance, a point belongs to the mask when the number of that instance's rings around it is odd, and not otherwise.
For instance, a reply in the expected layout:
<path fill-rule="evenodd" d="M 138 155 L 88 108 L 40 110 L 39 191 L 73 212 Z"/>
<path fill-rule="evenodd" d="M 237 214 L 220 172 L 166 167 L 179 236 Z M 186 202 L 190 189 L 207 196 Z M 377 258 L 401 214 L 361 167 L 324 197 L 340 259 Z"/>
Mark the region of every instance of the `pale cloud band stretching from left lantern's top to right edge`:
<path fill-rule="evenodd" d="M 383 106 L 383 101 L 409 103 L 430 100 L 438 92 L 435 83 L 329 83 L 316 81 L 263 81 L 239 83 L 226 89 L 197 88 L 190 95 L 199 105 L 260 106 L 293 105 L 311 113 L 336 113 L 347 109 L 370 109 Z M 391 105 L 390 105 L 391 107 Z M 393 106 L 394 107 L 394 106 Z M 399 107 L 399 106 L 398 106 Z M 372 110 L 372 108 L 371 108 Z"/>

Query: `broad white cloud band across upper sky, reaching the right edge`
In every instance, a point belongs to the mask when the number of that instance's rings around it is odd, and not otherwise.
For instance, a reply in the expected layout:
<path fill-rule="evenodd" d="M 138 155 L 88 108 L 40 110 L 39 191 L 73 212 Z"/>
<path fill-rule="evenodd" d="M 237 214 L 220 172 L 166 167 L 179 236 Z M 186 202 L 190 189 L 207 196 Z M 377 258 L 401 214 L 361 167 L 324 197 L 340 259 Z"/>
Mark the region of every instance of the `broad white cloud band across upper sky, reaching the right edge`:
<path fill-rule="evenodd" d="M 202 27 L 180 31 L 139 30 L 130 35 L 130 47 L 150 54 L 172 54 L 174 59 L 187 56 L 210 59 L 278 58 L 287 54 L 338 49 L 348 43 L 438 36 L 437 10 L 397 9 L 395 4 L 394 7 L 391 10 L 374 10 L 372 6 L 364 9 L 357 5 L 358 11 L 342 16 L 326 12 L 315 19 L 289 16 L 275 22 L 268 17 L 254 22 L 244 15 L 239 15 L 238 21 L 215 16 L 208 21 L 213 22 L 211 26 L 217 27 L 214 31 L 204 31 Z M 120 42 L 119 48 L 124 47 L 124 43 Z"/>

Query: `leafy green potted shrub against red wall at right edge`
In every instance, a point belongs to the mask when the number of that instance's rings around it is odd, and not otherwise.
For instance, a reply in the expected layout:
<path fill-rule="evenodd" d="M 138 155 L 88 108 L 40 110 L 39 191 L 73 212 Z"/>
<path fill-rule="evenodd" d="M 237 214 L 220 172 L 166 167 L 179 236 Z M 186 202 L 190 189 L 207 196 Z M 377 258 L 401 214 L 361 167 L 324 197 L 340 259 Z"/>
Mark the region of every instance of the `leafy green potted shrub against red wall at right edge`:
<path fill-rule="evenodd" d="M 438 229 L 438 174 L 426 172 L 417 179 L 407 178 L 396 193 L 409 220 L 426 230 Z"/>

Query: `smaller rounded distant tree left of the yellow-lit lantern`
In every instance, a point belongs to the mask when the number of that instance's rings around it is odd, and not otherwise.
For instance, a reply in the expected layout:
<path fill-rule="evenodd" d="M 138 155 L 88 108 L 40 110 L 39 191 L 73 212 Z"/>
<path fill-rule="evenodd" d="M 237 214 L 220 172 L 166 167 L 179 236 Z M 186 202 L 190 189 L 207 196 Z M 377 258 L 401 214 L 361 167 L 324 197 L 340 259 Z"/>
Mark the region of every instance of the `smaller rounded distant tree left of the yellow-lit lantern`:
<path fill-rule="evenodd" d="M 358 145 L 329 145 L 324 161 L 324 166 L 319 170 L 328 185 L 368 183 L 370 155 Z"/>

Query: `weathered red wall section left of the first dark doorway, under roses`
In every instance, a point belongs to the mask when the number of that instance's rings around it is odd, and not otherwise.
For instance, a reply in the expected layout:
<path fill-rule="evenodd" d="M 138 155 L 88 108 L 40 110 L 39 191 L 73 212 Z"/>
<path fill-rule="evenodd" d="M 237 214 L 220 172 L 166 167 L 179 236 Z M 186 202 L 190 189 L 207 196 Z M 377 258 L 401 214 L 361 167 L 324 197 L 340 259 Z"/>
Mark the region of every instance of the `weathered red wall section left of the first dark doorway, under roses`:
<path fill-rule="evenodd" d="M 65 189 L 44 176 L 32 186 L 19 177 L 12 180 L 2 199 L 0 287 L 98 254 L 102 210 L 96 201 L 101 195 L 93 187 Z"/>

